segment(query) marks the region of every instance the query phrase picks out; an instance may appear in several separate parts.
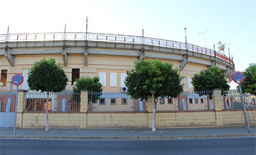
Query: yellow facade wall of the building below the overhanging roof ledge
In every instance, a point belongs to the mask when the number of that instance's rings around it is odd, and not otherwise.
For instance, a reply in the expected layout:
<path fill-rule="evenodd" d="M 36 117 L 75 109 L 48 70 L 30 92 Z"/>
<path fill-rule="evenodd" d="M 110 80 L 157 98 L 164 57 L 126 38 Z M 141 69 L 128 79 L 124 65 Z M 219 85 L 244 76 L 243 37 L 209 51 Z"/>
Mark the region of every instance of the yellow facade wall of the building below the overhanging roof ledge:
<path fill-rule="evenodd" d="M 0 70 L 7 70 L 7 85 L 1 87 L 0 91 L 7 91 L 10 88 L 11 77 L 16 73 L 23 73 L 28 71 L 30 67 L 45 58 L 54 58 L 57 63 L 62 63 L 62 55 L 22 55 L 15 57 L 15 66 L 10 66 L 5 57 L 0 57 Z M 146 60 L 153 60 L 152 58 L 146 58 Z M 166 59 L 160 59 L 162 62 L 170 62 L 174 68 L 178 68 L 179 63 L 177 61 L 171 61 Z M 107 55 L 90 55 L 88 66 L 84 65 L 84 56 L 82 54 L 70 54 L 68 56 L 68 65 L 63 66 L 64 71 L 68 77 L 68 84 L 66 90 L 71 90 L 71 77 L 72 69 L 80 69 L 80 77 L 94 77 L 98 76 L 99 72 L 106 73 L 106 86 L 103 87 L 104 92 L 121 92 L 121 73 L 134 68 L 134 62 L 138 61 L 138 57 L 124 57 L 124 56 L 107 56 Z M 184 90 L 192 90 L 188 87 L 188 77 L 193 77 L 194 74 L 207 69 L 207 66 L 203 66 L 195 63 L 188 63 L 185 69 L 181 71 L 181 75 L 184 75 L 182 84 Z M 110 74 L 117 73 L 117 86 L 110 86 Z"/>

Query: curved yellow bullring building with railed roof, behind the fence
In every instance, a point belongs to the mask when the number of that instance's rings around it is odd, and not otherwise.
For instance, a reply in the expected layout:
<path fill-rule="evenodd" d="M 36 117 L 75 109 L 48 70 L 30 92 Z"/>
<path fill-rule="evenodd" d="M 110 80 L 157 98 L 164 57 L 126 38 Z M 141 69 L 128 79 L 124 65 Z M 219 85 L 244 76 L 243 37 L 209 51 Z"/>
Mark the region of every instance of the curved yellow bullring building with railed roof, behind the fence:
<path fill-rule="evenodd" d="M 233 60 L 212 49 L 190 43 L 141 36 L 95 33 L 0 34 L 1 92 L 10 91 L 11 77 L 24 76 L 20 89 L 29 89 L 26 82 L 30 67 L 43 57 L 52 57 L 63 64 L 68 77 L 66 91 L 72 90 L 75 79 L 99 76 L 103 92 L 126 91 L 126 71 L 139 59 L 170 62 L 184 75 L 185 91 L 193 90 L 194 74 L 218 66 L 231 80 Z"/>

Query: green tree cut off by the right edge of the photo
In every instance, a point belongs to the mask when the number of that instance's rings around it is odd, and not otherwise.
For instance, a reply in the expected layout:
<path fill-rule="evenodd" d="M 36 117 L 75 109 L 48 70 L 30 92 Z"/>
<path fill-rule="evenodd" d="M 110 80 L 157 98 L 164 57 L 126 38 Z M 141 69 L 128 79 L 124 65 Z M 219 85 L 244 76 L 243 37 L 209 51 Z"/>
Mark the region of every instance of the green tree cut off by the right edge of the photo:
<path fill-rule="evenodd" d="M 245 80 L 241 83 L 243 92 L 256 95 L 256 63 L 249 64 L 243 74 L 245 75 Z"/>

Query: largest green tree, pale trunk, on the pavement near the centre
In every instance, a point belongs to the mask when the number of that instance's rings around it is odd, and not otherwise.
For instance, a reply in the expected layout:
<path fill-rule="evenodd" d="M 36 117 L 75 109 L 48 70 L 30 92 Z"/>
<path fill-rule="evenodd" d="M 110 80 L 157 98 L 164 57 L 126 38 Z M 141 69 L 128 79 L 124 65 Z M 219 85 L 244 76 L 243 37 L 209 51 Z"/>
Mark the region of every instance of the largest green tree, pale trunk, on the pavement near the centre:
<path fill-rule="evenodd" d="M 182 91 L 182 76 L 177 69 L 172 69 L 172 64 L 161 61 L 135 62 L 135 70 L 126 71 L 127 93 L 132 98 L 149 100 L 153 107 L 152 131 L 156 130 L 155 117 L 158 98 L 176 98 Z"/>

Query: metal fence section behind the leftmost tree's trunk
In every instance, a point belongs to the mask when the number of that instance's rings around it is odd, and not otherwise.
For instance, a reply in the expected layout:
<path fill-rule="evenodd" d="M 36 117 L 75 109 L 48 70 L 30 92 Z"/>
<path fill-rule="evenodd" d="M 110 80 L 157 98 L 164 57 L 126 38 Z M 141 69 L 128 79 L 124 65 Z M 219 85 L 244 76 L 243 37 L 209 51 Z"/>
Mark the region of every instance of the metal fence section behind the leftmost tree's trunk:
<path fill-rule="evenodd" d="M 26 112 L 45 112 L 47 93 L 26 93 Z M 80 92 L 49 93 L 49 112 L 80 112 Z"/>

